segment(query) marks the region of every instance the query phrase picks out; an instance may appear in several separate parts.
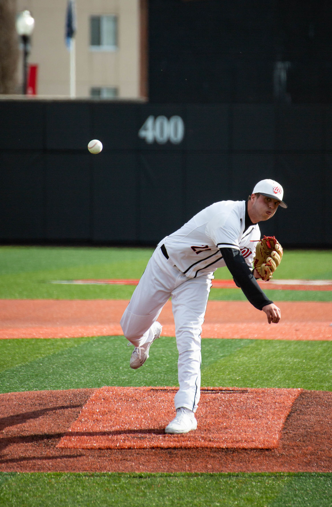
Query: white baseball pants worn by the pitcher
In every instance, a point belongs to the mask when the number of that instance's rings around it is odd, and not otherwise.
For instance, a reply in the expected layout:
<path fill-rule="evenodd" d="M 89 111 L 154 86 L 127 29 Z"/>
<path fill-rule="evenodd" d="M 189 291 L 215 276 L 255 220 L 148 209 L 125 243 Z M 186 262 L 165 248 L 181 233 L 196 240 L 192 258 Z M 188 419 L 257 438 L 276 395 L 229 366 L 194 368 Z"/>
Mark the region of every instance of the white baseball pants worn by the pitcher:
<path fill-rule="evenodd" d="M 120 324 L 124 336 L 135 347 L 153 339 L 150 330 L 164 304 L 172 297 L 176 344 L 179 351 L 179 390 L 175 408 L 194 412 L 200 400 L 201 332 L 213 273 L 188 278 L 166 259 L 157 246 Z"/>

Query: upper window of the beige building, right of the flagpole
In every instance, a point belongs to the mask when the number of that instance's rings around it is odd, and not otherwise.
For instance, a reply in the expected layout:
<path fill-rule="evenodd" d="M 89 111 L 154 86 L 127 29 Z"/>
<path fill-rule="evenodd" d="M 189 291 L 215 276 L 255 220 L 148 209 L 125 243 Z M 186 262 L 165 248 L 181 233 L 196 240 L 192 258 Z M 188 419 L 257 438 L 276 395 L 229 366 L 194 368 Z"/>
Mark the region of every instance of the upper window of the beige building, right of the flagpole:
<path fill-rule="evenodd" d="M 90 17 L 90 49 L 114 51 L 118 47 L 117 16 Z"/>

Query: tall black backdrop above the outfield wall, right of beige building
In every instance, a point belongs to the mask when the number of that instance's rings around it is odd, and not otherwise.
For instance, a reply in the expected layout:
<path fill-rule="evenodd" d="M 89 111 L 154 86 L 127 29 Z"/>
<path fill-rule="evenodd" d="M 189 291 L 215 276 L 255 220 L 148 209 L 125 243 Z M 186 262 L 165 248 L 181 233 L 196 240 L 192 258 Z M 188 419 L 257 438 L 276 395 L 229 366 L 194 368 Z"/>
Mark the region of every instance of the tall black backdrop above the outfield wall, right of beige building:
<path fill-rule="evenodd" d="M 152 102 L 332 101 L 329 0 L 149 0 Z"/>

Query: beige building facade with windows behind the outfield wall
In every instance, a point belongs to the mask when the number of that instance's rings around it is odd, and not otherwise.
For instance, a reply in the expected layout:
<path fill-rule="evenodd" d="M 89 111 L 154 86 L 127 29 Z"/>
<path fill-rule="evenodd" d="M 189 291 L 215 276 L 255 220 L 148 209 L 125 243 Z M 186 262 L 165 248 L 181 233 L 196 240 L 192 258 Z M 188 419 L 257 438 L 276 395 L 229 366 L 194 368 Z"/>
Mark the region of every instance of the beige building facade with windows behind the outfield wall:
<path fill-rule="evenodd" d="M 35 19 L 29 64 L 38 65 L 37 95 L 70 96 L 70 51 L 65 44 L 67 0 L 17 0 Z M 142 71 L 142 0 L 76 0 L 76 96 L 146 97 Z M 21 51 L 22 58 L 22 51 Z M 18 91 L 22 83 L 18 66 Z"/>

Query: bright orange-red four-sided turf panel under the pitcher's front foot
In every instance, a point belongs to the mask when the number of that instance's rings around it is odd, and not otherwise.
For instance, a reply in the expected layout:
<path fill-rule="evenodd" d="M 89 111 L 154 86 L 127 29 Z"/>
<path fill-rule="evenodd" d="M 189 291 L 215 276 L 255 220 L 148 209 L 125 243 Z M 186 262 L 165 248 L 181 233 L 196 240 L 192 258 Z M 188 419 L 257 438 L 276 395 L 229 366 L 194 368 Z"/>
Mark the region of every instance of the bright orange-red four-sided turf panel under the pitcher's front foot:
<path fill-rule="evenodd" d="M 74 449 L 278 447 L 301 389 L 202 388 L 198 427 L 165 434 L 175 417 L 176 387 L 102 387 L 84 405 L 57 447 Z"/>

